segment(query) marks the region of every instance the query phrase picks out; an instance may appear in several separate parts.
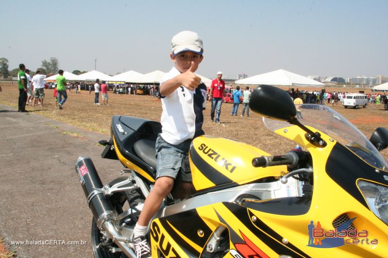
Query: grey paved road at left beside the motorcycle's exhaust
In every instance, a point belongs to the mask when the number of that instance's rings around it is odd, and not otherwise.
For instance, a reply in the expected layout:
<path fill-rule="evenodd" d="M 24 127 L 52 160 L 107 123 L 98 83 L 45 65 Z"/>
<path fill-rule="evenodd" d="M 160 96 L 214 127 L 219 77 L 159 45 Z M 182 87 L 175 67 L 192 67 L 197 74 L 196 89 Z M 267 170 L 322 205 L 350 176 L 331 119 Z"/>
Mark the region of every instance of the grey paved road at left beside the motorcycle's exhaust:
<path fill-rule="evenodd" d="M 85 245 L 11 245 L 17 257 L 93 257 L 92 213 L 75 173 L 89 156 L 103 183 L 122 166 L 101 159 L 108 136 L 0 105 L 0 236 L 11 241 L 86 241 Z M 110 121 L 106 121 L 107 123 Z"/>

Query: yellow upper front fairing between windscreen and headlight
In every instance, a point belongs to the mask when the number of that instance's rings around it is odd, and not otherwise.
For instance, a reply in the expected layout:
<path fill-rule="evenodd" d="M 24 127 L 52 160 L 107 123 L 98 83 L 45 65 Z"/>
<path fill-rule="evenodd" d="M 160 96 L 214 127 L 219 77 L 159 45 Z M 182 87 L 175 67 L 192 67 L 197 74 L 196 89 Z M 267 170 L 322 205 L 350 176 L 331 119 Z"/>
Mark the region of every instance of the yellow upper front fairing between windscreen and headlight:
<path fill-rule="evenodd" d="M 274 131 L 283 137 L 287 137 L 299 143 L 311 154 L 312 163 L 314 165 L 314 190 L 311 198 L 311 206 L 308 212 L 298 216 L 283 216 L 276 215 L 271 212 L 259 212 L 256 210 L 251 210 L 251 212 L 253 212 L 256 217 L 260 218 L 260 220 L 266 223 L 270 228 L 274 229 L 275 232 L 283 237 L 286 237 L 290 242 L 294 243 L 311 257 L 343 257 L 349 254 L 355 254 L 359 257 L 385 257 L 388 253 L 388 233 L 385 231 L 387 225 L 371 213 L 369 208 L 365 206 L 364 200 L 362 202 L 359 201 L 360 195 L 357 197 L 356 194 L 355 197 L 353 196 L 353 192 L 355 192 L 354 190 L 348 192 L 341 186 L 341 184 L 346 184 L 347 180 L 348 183 L 353 182 L 351 184 L 354 184 L 354 187 L 356 187 L 356 181 L 351 181 L 350 178 L 341 175 L 341 173 L 344 173 L 342 169 L 340 171 L 339 169 L 335 169 L 335 172 L 327 171 L 328 169 L 333 169 L 333 167 L 336 166 L 336 162 L 339 162 L 338 157 L 336 157 L 336 159 L 332 158 L 333 155 L 339 154 L 339 150 L 344 153 L 352 152 L 347 149 L 345 150 L 345 147 L 323 132 L 312 127 L 309 128 L 312 131 L 318 131 L 321 134 L 321 137 L 327 143 L 326 147 L 319 148 L 309 143 L 306 137 L 303 137 L 304 131 L 297 126 L 283 127 Z M 334 150 L 334 153 L 332 153 L 333 149 L 336 149 Z M 350 163 L 355 162 L 355 160 L 346 159 L 352 155 L 354 155 L 352 158 L 359 160 L 356 161 L 356 165 L 367 166 L 366 163 L 354 153 L 346 155 L 342 154 L 341 163 L 349 166 Z M 329 168 L 327 168 L 329 158 L 332 160 L 330 160 L 331 164 L 329 165 Z M 352 169 L 357 170 L 357 173 L 362 173 L 363 177 L 367 176 L 367 178 L 370 178 L 369 175 L 371 174 L 371 171 L 373 171 L 373 178 L 375 175 L 382 174 L 371 170 L 371 166 L 363 172 L 359 167 L 356 167 L 356 165 L 352 165 Z M 355 171 L 352 171 L 352 173 L 354 172 Z M 335 174 L 331 175 L 333 178 L 329 176 L 329 173 Z M 346 173 L 350 173 L 350 170 L 345 172 L 345 174 Z M 341 182 L 337 182 L 337 177 L 340 178 L 339 181 Z M 378 182 L 381 182 L 381 180 Z M 336 248 L 314 248 L 307 246 L 307 225 L 310 221 L 314 221 L 315 223 L 319 221 L 321 227 L 325 230 L 333 230 L 335 220 L 343 214 L 347 215 L 349 218 L 356 217 L 356 220 L 353 222 L 354 227 L 360 230 L 368 230 L 368 238 L 371 240 L 378 239 L 379 244 L 345 244 Z"/>

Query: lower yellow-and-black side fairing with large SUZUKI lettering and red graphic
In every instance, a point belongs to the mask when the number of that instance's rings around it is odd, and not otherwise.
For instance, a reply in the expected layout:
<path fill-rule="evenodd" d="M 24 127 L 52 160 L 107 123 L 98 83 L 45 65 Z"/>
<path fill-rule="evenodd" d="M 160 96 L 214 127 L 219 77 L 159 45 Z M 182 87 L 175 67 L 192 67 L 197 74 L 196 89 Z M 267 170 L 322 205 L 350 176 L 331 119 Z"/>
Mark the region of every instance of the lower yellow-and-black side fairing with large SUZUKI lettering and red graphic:
<path fill-rule="evenodd" d="M 151 248 L 163 257 L 200 257 L 214 230 L 223 226 L 228 231 L 226 257 L 236 251 L 242 257 L 309 257 L 290 242 L 282 243 L 284 237 L 264 222 L 254 223 L 253 215 L 245 207 L 223 202 L 158 218 L 151 223 Z"/>

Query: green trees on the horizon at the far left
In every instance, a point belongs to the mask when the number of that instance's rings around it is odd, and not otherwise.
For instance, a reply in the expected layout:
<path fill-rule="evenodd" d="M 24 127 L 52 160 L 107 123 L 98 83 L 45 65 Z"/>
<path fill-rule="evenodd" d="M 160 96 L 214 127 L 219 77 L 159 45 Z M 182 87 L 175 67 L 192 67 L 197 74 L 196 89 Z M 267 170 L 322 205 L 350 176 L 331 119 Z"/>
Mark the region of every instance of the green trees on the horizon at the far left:
<path fill-rule="evenodd" d="M 15 69 L 8 70 L 9 65 L 8 65 L 8 59 L 6 58 L 0 58 L 0 77 L 3 77 L 4 79 L 7 79 L 9 77 L 17 77 L 17 73 L 19 72 L 19 67 L 16 67 Z M 27 67 L 27 69 L 29 69 Z M 31 70 L 31 69 L 30 69 Z M 56 74 L 58 73 L 59 70 L 59 61 L 58 58 L 51 57 L 48 60 L 42 60 L 41 67 L 39 67 L 37 70 L 41 72 L 42 75 L 47 75 L 47 74 Z M 31 75 L 34 75 L 35 71 L 31 71 Z M 86 71 L 80 71 L 80 70 L 74 70 L 72 72 L 75 75 L 81 75 L 86 73 Z"/>

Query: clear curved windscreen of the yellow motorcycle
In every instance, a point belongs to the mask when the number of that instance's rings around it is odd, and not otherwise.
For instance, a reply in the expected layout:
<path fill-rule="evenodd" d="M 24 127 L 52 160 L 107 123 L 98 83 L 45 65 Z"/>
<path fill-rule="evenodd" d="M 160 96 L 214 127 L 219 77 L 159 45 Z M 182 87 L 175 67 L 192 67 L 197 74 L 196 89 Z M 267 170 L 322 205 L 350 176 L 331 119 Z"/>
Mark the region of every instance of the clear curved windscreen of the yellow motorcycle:
<path fill-rule="evenodd" d="M 303 104 L 298 107 L 298 120 L 332 137 L 373 167 L 387 170 L 388 164 L 380 152 L 351 122 L 328 106 Z M 265 126 L 275 131 L 290 126 L 288 122 L 263 117 Z"/>

